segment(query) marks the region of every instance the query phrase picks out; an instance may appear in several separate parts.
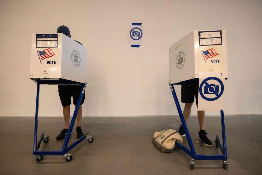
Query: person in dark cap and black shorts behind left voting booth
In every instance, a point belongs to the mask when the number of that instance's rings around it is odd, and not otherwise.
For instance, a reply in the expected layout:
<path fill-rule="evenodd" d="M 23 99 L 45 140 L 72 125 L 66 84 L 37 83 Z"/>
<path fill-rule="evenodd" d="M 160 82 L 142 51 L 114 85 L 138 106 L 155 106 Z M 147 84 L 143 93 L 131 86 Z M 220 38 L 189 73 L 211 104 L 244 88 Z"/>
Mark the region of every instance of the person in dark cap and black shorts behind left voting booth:
<path fill-rule="evenodd" d="M 63 33 L 71 38 L 71 33 L 68 27 L 62 25 L 59 26 L 56 33 Z M 78 42 L 78 41 L 76 41 Z M 80 42 L 78 42 L 81 44 Z M 83 45 L 83 44 L 81 44 Z M 67 136 L 68 128 L 69 128 L 69 118 L 70 118 L 70 105 L 71 105 L 71 98 L 73 96 L 73 103 L 76 106 L 78 97 L 80 95 L 82 87 L 79 85 L 58 85 L 58 94 L 63 106 L 63 115 L 64 115 L 64 129 L 61 133 L 56 137 L 57 140 L 62 140 Z M 78 113 L 77 113 L 77 138 L 80 138 L 84 135 L 82 128 L 81 128 L 81 119 L 82 119 L 82 105 L 85 100 L 85 93 L 83 95 Z"/>

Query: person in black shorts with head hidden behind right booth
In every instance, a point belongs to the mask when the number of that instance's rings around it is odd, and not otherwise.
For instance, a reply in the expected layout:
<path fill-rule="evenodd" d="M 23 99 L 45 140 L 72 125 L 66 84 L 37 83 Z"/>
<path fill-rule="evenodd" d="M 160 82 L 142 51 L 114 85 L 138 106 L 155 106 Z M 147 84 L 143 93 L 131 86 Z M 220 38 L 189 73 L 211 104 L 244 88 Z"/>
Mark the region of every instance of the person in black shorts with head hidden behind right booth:
<path fill-rule="evenodd" d="M 185 107 L 183 110 L 183 116 L 185 122 L 187 122 L 190 116 L 194 99 L 196 99 L 196 107 L 198 107 L 198 86 L 199 86 L 198 84 L 181 85 L 181 102 L 185 103 Z M 212 142 L 208 139 L 208 137 L 206 137 L 208 133 L 205 132 L 205 111 L 197 111 L 197 112 L 198 112 L 197 116 L 198 116 L 198 122 L 200 127 L 200 131 L 198 132 L 199 138 L 204 143 L 205 146 L 211 147 Z M 185 136 L 183 125 L 180 125 L 178 132 L 181 136 Z"/>

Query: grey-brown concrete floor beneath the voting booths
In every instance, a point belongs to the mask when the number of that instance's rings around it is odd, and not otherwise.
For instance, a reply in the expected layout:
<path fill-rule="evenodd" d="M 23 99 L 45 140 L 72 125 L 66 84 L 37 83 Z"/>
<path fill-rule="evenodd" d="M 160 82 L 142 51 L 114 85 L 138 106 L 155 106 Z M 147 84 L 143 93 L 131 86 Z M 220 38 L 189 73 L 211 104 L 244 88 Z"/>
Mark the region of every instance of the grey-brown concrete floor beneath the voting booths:
<path fill-rule="evenodd" d="M 262 116 L 225 116 L 228 169 L 221 160 L 195 161 L 178 147 L 161 153 L 153 144 L 154 132 L 167 128 L 178 130 L 180 119 L 159 117 L 83 117 L 82 128 L 94 141 L 82 141 L 71 151 L 73 159 L 63 156 L 33 157 L 34 117 L 0 117 L 0 174 L 261 174 Z M 190 117 L 190 136 L 197 154 L 221 154 L 214 146 L 221 136 L 220 116 L 206 117 L 206 132 L 213 147 L 198 140 L 197 117 Z M 63 117 L 39 117 L 38 135 L 49 135 L 39 150 L 61 150 L 64 140 L 56 136 L 63 129 Z M 75 127 L 69 143 L 76 140 Z M 38 137 L 39 137 L 38 136 Z M 184 145 L 188 147 L 186 137 Z M 189 147 L 188 147 L 189 148 Z"/>

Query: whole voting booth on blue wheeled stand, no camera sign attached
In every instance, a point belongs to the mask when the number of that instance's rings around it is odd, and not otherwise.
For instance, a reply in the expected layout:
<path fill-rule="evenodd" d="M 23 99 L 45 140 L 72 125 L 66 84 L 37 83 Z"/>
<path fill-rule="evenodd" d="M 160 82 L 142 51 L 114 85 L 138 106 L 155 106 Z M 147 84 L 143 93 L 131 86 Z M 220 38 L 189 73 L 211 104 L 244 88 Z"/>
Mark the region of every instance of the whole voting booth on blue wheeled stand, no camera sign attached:
<path fill-rule="evenodd" d="M 37 83 L 33 155 L 37 161 L 41 161 L 44 155 L 63 155 L 67 161 L 71 161 L 73 153 L 69 153 L 69 151 L 73 147 L 85 138 L 90 143 L 93 141 L 93 137 L 88 132 L 68 146 L 87 84 L 87 52 L 85 47 L 62 33 L 32 34 L 30 79 Z M 45 136 L 44 133 L 37 141 L 40 84 L 79 85 L 82 87 L 62 151 L 38 150 L 42 141 L 45 143 L 49 141 L 49 136 Z"/>

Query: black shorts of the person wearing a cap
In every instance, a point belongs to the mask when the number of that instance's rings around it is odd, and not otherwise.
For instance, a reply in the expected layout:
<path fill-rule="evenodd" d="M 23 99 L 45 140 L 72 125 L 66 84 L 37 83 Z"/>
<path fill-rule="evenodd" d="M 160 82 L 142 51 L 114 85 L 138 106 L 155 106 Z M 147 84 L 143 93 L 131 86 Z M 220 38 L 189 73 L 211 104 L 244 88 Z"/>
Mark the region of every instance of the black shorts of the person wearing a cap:
<path fill-rule="evenodd" d="M 78 85 L 58 85 L 58 94 L 62 103 L 62 106 L 68 106 L 71 104 L 71 97 L 73 96 L 74 105 L 77 105 L 78 97 L 80 95 L 82 86 Z M 80 105 L 84 103 L 85 93 L 83 94 Z"/>

